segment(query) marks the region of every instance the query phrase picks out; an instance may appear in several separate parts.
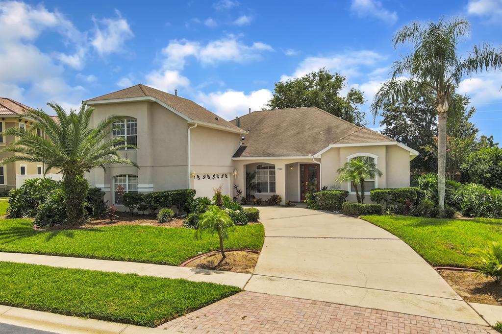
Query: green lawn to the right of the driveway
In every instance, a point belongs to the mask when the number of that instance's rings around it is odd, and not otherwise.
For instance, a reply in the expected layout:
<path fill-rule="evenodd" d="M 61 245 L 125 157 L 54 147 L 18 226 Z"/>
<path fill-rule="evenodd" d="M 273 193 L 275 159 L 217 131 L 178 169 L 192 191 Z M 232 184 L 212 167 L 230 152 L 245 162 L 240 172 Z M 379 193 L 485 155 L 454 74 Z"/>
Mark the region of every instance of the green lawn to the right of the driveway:
<path fill-rule="evenodd" d="M 433 266 L 474 267 L 472 248 L 502 242 L 502 219 L 433 219 L 409 216 L 361 216 L 410 245 Z"/>

